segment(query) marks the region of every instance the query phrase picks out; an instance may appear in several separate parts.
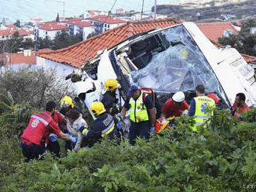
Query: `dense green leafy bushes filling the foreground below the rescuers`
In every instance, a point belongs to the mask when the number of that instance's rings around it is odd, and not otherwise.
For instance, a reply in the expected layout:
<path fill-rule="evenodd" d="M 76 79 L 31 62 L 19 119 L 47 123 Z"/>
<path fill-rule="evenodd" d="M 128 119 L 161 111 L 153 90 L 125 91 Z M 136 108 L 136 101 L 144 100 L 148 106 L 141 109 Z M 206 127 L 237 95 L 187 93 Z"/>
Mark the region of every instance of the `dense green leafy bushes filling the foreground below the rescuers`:
<path fill-rule="evenodd" d="M 198 133 L 182 117 L 175 129 L 119 145 L 103 140 L 61 159 L 16 163 L 3 191 L 254 191 L 256 109 L 244 122 L 217 111 Z M 181 119 L 180 119 L 181 120 Z M 9 160 L 9 159 L 8 159 Z M 4 180 L 4 181 L 3 181 Z M 4 184 L 3 184 L 4 183 Z M 1 189 L 1 188 L 0 188 Z"/>

